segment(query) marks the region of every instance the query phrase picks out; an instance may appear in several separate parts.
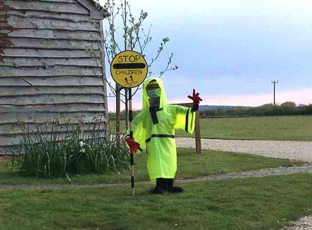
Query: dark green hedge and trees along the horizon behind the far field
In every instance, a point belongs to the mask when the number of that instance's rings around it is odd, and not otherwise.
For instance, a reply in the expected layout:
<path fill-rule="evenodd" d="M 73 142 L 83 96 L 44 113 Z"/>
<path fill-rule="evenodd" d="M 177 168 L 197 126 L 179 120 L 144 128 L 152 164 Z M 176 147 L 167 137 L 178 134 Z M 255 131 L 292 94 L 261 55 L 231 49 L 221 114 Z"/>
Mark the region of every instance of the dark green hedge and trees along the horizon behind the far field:
<path fill-rule="evenodd" d="M 209 109 L 199 112 L 200 116 L 270 116 L 312 115 L 312 104 L 299 105 L 286 101 L 280 105 L 264 104 L 258 107 L 235 107 L 233 109 Z"/>

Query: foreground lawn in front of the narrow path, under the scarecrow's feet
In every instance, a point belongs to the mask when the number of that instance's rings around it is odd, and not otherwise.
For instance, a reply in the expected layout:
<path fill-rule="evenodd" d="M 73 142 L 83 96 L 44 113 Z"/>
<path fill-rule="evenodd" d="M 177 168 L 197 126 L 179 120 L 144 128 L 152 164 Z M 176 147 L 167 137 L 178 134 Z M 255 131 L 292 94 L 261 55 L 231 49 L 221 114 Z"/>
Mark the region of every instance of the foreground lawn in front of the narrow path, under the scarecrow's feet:
<path fill-rule="evenodd" d="M 279 230 L 312 214 L 309 173 L 180 183 L 184 193 L 152 195 L 151 185 L 0 191 L 1 230 Z"/>

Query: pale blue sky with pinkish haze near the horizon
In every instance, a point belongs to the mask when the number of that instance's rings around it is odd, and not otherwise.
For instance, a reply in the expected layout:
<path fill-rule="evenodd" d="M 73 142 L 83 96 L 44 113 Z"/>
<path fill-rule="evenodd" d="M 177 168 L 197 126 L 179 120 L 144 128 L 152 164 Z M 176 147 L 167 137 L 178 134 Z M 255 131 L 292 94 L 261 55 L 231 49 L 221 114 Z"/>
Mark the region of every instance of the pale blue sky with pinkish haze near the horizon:
<path fill-rule="evenodd" d="M 105 0 L 102 0 L 104 2 Z M 116 1 L 119 3 L 119 1 Z M 162 76 L 169 103 L 189 102 L 193 88 L 202 105 L 259 106 L 312 103 L 311 0 L 129 0 L 137 18 L 148 12 L 149 63 L 162 38 L 166 44 L 151 70 L 159 75 L 174 53 L 176 71 Z M 118 32 L 122 31 L 121 21 Z M 104 30 L 107 23 L 104 21 Z M 121 39 L 117 40 L 120 42 Z M 121 45 L 122 46 L 122 45 Z M 106 65 L 110 76 L 109 64 Z M 141 108 L 139 91 L 133 98 Z M 108 100 L 115 110 L 114 98 Z"/>

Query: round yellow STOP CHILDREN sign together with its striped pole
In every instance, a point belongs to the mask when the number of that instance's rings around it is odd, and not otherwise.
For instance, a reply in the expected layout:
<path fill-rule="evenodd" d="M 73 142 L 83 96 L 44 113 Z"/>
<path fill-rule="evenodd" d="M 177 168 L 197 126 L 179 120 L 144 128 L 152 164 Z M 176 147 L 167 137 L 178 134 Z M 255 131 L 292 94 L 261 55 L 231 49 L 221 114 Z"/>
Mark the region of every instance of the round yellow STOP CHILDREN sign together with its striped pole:
<path fill-rule="evenodd" d="M 132 115 L 132 88 L 139 86 L 148 73 L 146 60 L 135 51 L 123 51 L 116 55 L 111 63 L 111 75 L 122 87 L 129 88 L 129 130 L 130 138 L 133 138 Z M 135 166 L 134 154 L 130 153 L 131 166 L 131 194 L 135 195 Z"/>

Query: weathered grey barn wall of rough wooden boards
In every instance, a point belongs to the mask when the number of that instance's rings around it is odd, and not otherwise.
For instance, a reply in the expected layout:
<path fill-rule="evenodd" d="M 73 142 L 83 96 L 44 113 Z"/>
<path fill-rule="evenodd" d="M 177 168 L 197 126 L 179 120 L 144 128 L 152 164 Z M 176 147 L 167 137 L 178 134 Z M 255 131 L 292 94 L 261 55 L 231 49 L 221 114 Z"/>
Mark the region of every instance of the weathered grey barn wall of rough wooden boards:
<path fill-rule="evenodd" d="M 0 155 L 18 121 L 106 117 L 105 14 L 93 0 L 0 0 Z"/>

